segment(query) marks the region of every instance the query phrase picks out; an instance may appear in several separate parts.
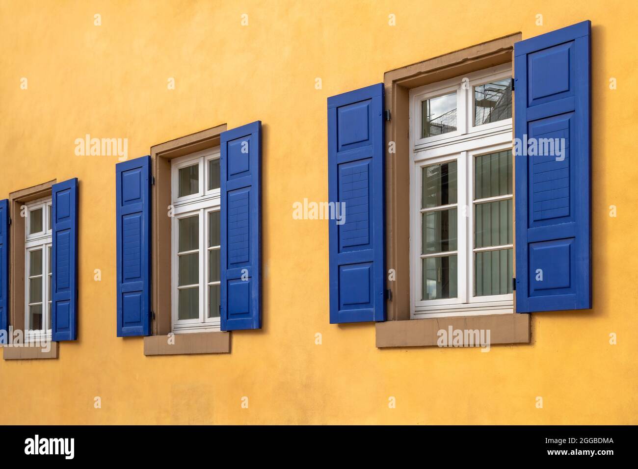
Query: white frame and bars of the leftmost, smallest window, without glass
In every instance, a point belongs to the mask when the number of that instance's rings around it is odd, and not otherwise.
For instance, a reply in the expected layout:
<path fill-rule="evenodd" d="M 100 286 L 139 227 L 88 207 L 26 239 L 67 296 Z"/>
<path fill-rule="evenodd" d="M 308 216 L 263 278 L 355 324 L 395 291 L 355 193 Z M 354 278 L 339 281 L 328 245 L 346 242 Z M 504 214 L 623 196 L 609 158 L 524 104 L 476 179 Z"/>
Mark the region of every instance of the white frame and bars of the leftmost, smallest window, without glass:
<path fill-rule="evenodd" d="M 53 249 L 53 223 L 50 220 L 50 207 L 52 207 L 52 198 L 41 198 L 25 204 L 26 218 L 24 225 L 24 330 L 26 342 L 43 341 L 51 339 L 51 329 L 49 329 L 49 304 L 52 303 L 52 294 L 48 287 L 48 277 L 52 274 L 48 273 L 48 249 Z M 42 210 L 42 231 L 38 233 L 29 233 L 31 228 L 31 212 L 34 210 Z M 31 251 L 42 249 L 42 324 L 43 329 L 31 329 L 31 315 L 29 314 L 29 294 L 31 293 L 31 262 L 29 256 Z M 51 305 L 52 306 L 52 305 Z"/>

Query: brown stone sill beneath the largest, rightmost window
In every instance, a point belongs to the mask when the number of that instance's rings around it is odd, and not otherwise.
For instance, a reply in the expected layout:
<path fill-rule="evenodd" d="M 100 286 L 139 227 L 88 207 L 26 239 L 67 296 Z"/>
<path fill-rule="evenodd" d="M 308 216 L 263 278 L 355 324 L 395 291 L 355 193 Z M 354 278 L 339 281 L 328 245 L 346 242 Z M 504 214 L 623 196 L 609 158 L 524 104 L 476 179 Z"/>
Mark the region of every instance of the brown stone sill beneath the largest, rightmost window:
<path fill-rule="evenodd" d="M 504 315 L 456 316 L 446 318 L 410 319 L 376 323 L 376 346 L 423 347 L 436 346 L 438 331 L 483 329 L 490 331 L 489 343 L 530 343 L 531 315 L 511 313 Z M 450 339 L 451 340 L 451 339 Z"/>

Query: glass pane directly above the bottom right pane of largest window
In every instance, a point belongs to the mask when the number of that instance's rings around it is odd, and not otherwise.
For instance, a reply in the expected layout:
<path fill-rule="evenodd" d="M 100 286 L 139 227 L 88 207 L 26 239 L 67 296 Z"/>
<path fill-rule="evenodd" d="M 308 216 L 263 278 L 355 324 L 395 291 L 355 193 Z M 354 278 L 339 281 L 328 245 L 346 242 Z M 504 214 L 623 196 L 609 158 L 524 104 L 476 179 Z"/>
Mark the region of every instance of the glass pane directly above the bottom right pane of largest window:
<path fill-rule="evenodd" d="M 512 244 L 512 199 L 474 206 L 474 247 Z"/>

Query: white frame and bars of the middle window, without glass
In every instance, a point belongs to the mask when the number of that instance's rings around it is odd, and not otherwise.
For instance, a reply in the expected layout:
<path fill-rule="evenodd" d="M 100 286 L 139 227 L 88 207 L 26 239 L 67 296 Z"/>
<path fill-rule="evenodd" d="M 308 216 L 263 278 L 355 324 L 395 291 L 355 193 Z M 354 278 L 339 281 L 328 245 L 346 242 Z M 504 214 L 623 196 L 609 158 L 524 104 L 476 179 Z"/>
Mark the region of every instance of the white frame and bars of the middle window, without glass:
<path fill-rule="evenodd" d="M 208 302 L 209 302 L 209 285 L 218 285 L 219 281 L 208 281 L 208 251 L 211 250 L 208 245 L 208 214 L 210 212 L 219 211 L 221 209 L 221 189 L 216 188 L 208 190 L 209 161 L 218 159 L 221 156 L 219 147 L 205 149 L 197 153 L 188 154 L 175 158 L 171 161 L 171 195 L 172 195 L 172 221 L 171 221 L 171 292 L 172 292 L 172 331 L 175 334 L 188 332 L 216 332 L 220 330 L 221 320 L 219 317 L 209 318 Z M 199 191 L 198 193 L 177 197 L 179 194 L 178 172 L 180 168 L 197 164 L 199 166 Z M 189 216 L 198 216 L 199 220 L 199 318 L 197 319 L 178 319 L 178 274 L 179 263 L 177 262 L 178 253 L 178 228 L 181 218 Z"/>

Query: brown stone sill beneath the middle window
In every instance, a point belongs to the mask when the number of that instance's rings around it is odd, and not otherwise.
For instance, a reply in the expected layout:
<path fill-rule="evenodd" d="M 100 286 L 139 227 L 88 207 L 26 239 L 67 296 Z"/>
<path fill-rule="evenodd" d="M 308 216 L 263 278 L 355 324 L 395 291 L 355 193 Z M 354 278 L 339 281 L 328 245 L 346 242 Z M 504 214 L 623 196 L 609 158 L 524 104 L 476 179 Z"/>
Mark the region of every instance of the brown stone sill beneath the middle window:
<path fill-rule="evenodd" d="M 144 338 L 144 355 L 228 353 L 230 353 L 230 332 L 197 332 Z"/>

